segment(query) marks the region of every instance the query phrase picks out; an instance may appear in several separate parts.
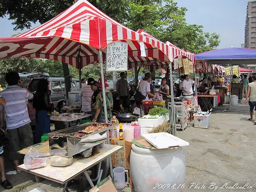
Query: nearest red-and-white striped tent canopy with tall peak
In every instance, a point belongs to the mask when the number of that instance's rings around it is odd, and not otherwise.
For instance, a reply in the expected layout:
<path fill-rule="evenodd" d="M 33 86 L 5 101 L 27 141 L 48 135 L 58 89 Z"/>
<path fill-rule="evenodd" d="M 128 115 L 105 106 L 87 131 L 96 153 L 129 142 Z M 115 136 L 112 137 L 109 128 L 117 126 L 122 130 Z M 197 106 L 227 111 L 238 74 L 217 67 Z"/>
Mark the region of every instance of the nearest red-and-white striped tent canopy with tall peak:
<path fill-rule="evenodd" d="M 79 0 L 49 22 L 15 37 L 0 38 L 0 59 L 38 57 L 78 67 L 99 62 L 99 50 L 115 41 L 128 44 L 129 66 L 150 65 L 173 59 L 172 48 L 119 24 L 86 0 Z M 144 42 L 146 57 L 141 56 Z"/>

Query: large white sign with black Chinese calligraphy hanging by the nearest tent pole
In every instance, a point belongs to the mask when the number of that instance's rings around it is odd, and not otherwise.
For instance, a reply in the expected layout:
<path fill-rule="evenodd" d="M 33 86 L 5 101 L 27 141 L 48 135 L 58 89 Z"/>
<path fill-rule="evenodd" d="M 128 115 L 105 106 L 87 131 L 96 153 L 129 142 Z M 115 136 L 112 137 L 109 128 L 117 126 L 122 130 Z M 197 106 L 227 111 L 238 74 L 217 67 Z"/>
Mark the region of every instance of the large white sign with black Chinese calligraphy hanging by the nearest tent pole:
<path fill-rule="evenodd" d="M 113 42 L 106 48 L 106 71 L 128 70 L 128 44 Z"/>

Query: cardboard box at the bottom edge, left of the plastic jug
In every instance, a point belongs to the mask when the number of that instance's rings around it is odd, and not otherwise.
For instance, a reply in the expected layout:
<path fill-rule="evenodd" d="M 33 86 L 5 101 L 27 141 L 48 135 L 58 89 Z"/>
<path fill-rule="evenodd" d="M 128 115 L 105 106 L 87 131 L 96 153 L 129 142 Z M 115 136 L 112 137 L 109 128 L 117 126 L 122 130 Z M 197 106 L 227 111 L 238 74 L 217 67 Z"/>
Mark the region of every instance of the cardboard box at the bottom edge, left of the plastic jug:
<path fill-rule="evenodd" d="M 117 192 L 117 189 L 109 176 L 100 181 L 95 187 L 91 188 L 89 192 Z"/>

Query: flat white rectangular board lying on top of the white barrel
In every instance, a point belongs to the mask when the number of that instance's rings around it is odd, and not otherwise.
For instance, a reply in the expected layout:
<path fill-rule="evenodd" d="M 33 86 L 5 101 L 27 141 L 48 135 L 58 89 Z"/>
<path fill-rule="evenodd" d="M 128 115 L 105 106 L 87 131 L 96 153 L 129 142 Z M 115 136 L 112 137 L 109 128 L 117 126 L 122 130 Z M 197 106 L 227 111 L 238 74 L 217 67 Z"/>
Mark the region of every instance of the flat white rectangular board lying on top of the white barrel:
<path fill-rule="evenodd" d="M 156 148 L 169 148 L 174 146 L 188 146 L 189 143 L 168 133 L 148 133 L 142 137 Z"/>

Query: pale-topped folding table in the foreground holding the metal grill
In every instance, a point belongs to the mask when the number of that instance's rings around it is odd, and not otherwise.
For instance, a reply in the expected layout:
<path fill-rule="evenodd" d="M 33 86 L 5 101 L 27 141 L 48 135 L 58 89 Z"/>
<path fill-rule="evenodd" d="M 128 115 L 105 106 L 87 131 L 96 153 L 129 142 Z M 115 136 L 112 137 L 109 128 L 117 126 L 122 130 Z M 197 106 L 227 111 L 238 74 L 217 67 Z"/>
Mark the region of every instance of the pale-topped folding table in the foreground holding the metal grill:
<path fill-rule="evenodd" d="M 44 143 L 46 144 L 46 142 Z M 27 147 L 27 149 L 28 148 L 29 147 Z M 28 170 L 26 166 L 22 164 L 18 166 L 18 169 L 21 169 L 29 174 L 63 184 L 63 191 L 69 191 L 67 188 L 68 182 L 82 173 L 86 176 L 84 179 L 87 179 L 92 186 L 93 183 L 87 173 L 87 170 L 94 165 L 101 163 L 104 159 L 110 157 L 111 155 L 117 153 L 122 148 L 123 146 L 104 144 L 102 148 L 97 148 L 93 152 L 92 156 L 84 159 L 74 159 L 73 163 L 66 167 L 53 167 L 50 164 L 47 164 L 46 167 Z M 22 152 L 24 153 L 24 150 L 22 150 L 20 153 Z"/>

